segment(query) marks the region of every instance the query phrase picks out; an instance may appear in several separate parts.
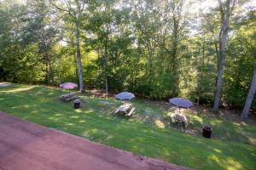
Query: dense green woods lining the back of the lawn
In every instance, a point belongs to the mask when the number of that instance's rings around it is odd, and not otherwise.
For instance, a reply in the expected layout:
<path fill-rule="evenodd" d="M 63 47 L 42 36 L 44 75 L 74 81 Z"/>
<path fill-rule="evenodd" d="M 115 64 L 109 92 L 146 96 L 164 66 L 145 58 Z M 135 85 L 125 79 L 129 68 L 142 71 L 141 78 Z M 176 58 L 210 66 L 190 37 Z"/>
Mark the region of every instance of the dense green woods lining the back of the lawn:
<path fill-rule="evenodd" d="M 253 1 L 0 1 L 0 81 L 243 108 L 256 88 Z M 253 71 L 254 70 L 254 71 Z M 253 76 L 254 75 L 254 76 Z"/>

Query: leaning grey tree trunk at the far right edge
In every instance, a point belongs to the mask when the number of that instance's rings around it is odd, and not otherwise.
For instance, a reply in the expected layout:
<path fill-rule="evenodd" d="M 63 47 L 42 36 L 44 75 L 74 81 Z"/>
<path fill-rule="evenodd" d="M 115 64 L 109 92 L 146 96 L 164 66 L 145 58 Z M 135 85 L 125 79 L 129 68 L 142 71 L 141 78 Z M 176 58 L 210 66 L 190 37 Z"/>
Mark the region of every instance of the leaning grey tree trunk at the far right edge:
<path fill-rule="evenodd" d="M 249 115 L 249 110 L 250 110 L 250 107 L 251 107 L 252 102 L 253 102 L 253 97 L 254 97 L 254 94 L 255 94 L 255 90 L 256 90 L 256 65 L 254 65 L 253 80 L 252 80 L 249 92 L 247 94 L 247 101 L 246 101 L 246 103 L 244 105 L 244 108 L 241 112 L 241 117 L 242 118 L 247 118 L 247 116 Z"/>

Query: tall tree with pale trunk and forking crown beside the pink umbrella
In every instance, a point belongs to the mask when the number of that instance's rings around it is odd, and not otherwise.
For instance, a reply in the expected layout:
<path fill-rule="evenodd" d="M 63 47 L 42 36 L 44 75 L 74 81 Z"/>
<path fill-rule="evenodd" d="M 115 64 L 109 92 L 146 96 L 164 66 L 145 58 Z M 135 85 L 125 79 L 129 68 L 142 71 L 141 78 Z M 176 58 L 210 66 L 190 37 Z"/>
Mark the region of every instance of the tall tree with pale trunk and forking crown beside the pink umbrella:
<path fill-rule="evenodd" d="M 84 93 L 84 81 L 82 72 L 82 61 L 81 61 L 81 49 L 80 49 L 80 25 L 82 20 L 82 14 L 84 13 L 85 3 L 80 0 L 67 0 L 64 3 L 56 4 L 54 0 L 50 0 L 55 8 L 68 15 L 74 25 L 74 34 L 76 39 L 76 54 L 77 54 L 77 65 L 79 74 L 79 90 Z"/>

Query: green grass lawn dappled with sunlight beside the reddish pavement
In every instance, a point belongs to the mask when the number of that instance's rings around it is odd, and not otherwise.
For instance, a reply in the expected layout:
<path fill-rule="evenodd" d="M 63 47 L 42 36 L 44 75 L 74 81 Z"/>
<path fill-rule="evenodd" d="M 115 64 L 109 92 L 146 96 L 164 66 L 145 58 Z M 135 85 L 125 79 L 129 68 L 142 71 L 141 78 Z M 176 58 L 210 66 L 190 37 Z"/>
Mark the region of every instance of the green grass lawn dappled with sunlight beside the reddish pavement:
<path fill-rule="evenodd" d="M 72 103 L 58 99 L 67 93 L 44 86 L 12 84 L 0 88 L 0 111 L 30 122 L 73 133 L 102 144 L 129 150 L 194 169 L 256 169 L 256 127 L 210 117 L 207 122 L 219 133 L 213 139 L 181 133 L 172 127 L 160 128 L 136 118 L 109 116 L 120 105 L 114 99 L 82 96 L 83 108 L 74 110 Z M 143 108 L 165 115 L 166 111 L 140 100 L 133 101 L 137 114 Z M 190 116 L 195 127 L 201 116 Z M 225 123 L 224 123 L 225 122 Z M 224 138 L 224 135 L 230 136 Z M 234 133 L 234 135 L 232 135 Z M 222 139 L 223 138 L 223 139 Z"/>

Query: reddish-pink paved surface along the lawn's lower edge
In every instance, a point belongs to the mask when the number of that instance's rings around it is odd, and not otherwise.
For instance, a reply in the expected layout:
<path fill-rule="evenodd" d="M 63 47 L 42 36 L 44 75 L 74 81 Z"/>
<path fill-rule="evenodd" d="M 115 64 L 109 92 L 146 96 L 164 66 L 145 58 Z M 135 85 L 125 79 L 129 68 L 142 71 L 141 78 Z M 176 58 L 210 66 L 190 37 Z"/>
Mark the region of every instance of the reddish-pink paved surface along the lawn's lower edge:
<path fill-rule="evenodd" d="M 0 112 L 0 170 L 184 170 Z"/>

